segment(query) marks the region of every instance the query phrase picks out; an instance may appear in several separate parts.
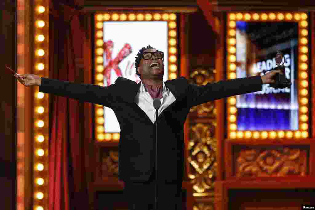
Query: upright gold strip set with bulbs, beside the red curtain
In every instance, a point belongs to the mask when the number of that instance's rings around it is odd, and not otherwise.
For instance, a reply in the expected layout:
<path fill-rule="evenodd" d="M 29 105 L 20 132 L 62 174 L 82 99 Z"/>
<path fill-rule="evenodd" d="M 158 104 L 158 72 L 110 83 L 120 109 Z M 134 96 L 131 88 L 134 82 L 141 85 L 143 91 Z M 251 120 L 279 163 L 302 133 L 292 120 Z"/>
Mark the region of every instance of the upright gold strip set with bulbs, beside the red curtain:
<path fill-rule="evenodd" d="M 42 13 L 38 12 L 39 6 L 42 6 Z M 34 5 L 34 68 L 32 73 L 38 75 L 39 77 L 49 77 L 49 1 L 47 0 L 37 0 Z M 37 21 L 42 20 L 45 24 L 43 27 L 37 27 Z M 43 36 L 43 40 L 37 40 L 39 35 Z M 37 52 L 39 49 L 44 51 L 43 56 L 38 56 Z M 43 199 L 37 199 L 34 194 L 33 197 L 33 208 L 43 207 L 43 210 L 48 209 L 48 180 L 49 180 L 49 155 L 48 155 L 48 139 L 49 139 L 49 94 L 43 94 L 43 98 L 38 98 L 38 86 L 34 88 L 34 136 L 33 136 L 33 160 L 34 160 L 34 170 L 33 170 L 33 191 L 43 193 Z M 43 112 L 38 113 L 37 107 L 42 107 Z M 44 122 L 43 127 L 38 127 L 37 123 L 39 120 Z M 40 138 L 38 138 L 40 137 Z M 37 155 L 37 151 L 44 151 L 43 156 Z M 43 164 L 43 170 L 37 170 L 37 164 Z M 42 185 L 37 184 L 37 180 L 41 178 L 44 180 Z M 40 208 L 39 208 L 40 209 Z"/>

